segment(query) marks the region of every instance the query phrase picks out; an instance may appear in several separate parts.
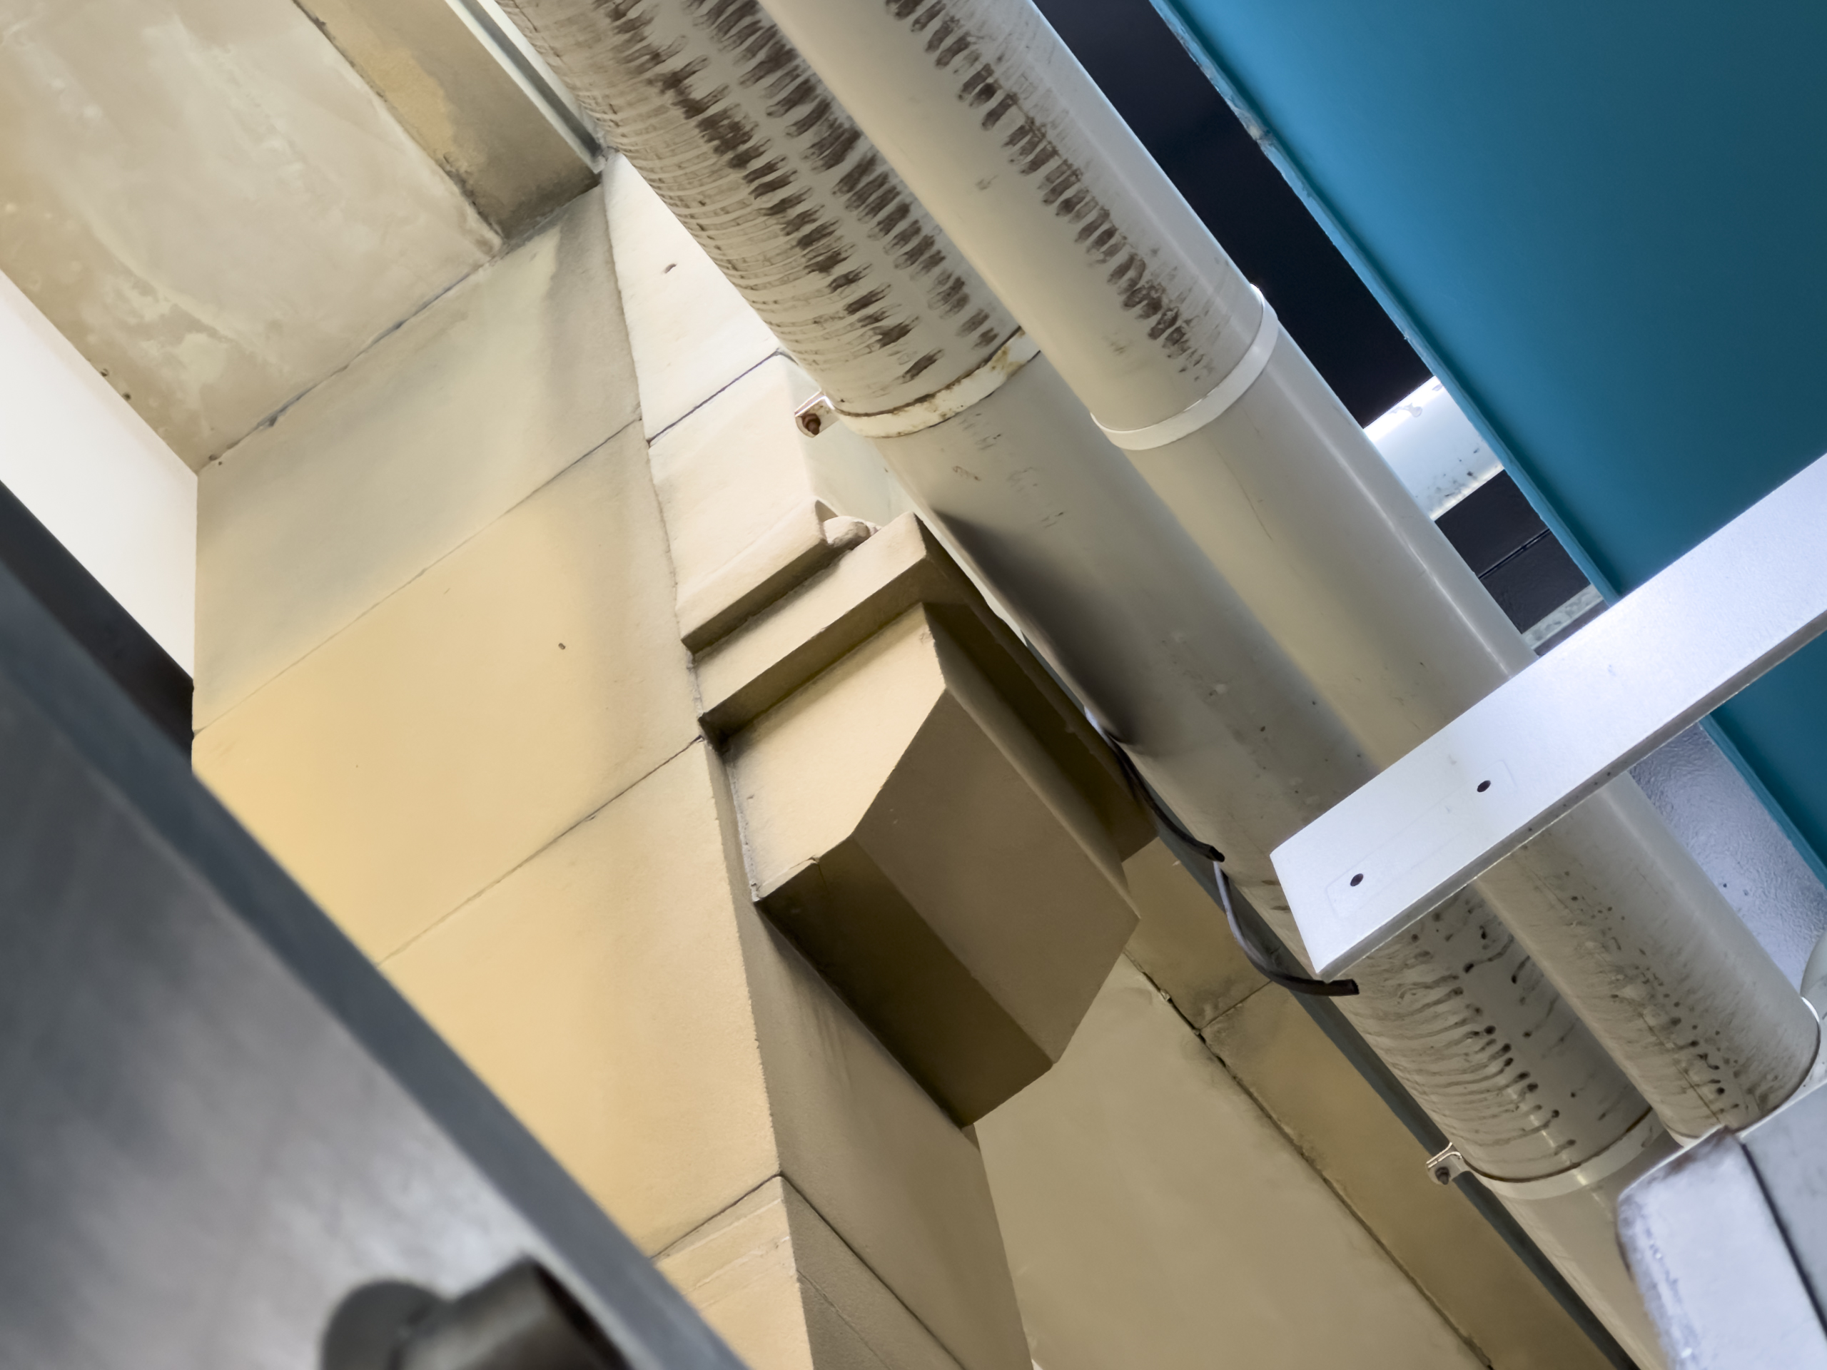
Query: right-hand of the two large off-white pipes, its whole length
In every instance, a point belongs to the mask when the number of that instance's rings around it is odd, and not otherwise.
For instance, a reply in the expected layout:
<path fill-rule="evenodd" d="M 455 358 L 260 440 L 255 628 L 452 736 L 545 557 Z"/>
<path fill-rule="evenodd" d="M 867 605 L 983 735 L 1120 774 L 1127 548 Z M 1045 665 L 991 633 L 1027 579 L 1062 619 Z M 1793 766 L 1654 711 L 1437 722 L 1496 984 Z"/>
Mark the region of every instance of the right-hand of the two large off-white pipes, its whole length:
<path fill-rule="evenodd" d="M 1032 4 L 764 2 L 1372 764 L 1533 659 Z M 1675 1133 L 1807 1072 L 1812 1016 L 1633 782 L 1480 891 Z"/>

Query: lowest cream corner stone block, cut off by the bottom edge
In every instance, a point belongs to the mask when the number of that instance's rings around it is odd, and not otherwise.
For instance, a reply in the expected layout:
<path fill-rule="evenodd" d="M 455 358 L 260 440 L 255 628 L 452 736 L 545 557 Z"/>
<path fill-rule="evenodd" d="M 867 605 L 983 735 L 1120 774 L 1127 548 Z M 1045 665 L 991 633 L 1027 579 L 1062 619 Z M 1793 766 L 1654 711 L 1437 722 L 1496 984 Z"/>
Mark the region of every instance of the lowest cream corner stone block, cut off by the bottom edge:
<path fill-rule="evenodd" d="M 755 1370 L 957 1370 L 780 1178 L 663 1251 L 656 1264 Z"/>

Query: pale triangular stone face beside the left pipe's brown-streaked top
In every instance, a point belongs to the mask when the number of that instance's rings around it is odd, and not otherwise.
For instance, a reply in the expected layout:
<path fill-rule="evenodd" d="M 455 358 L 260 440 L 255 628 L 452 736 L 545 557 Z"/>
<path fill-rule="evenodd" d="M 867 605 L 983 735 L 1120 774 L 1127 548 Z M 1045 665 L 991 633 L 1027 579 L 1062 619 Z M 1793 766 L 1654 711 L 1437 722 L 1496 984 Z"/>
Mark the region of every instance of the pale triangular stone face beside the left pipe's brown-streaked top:
<path fill-rule="evenodd" d="M 610 155 L 603 192 L 641 424 L 654 437 L 780 343 L 625 157 Z"/>

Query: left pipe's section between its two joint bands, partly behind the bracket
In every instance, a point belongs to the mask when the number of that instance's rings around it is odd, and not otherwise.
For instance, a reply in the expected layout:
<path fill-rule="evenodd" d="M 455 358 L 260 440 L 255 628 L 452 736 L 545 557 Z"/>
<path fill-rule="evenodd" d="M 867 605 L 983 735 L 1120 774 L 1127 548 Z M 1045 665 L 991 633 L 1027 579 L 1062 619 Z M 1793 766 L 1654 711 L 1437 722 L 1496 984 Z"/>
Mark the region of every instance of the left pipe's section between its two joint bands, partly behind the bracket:
<path fill-rule="evenodd" d="M 1292 939 L 1268 849 L 1370 778 L 1361 749 L 1045 356 L 882 455 L 1023 632 Z M 1356 970 L 1337 1006 L 1485 1175 L 1604 1151 L 1648 1105 L 1467 891 Z"/>

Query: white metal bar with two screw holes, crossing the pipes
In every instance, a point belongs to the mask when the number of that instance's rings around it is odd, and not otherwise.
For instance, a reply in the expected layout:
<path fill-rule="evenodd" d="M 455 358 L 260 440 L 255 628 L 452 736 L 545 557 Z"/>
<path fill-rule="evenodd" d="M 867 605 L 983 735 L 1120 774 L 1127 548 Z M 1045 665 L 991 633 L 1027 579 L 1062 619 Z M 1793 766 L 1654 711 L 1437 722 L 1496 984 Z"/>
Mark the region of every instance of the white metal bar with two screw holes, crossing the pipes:
<path fill-rule="evenodd" d="M 1827 628 L 1827 457 L 1273 851 L 1330 979 Z"/>

